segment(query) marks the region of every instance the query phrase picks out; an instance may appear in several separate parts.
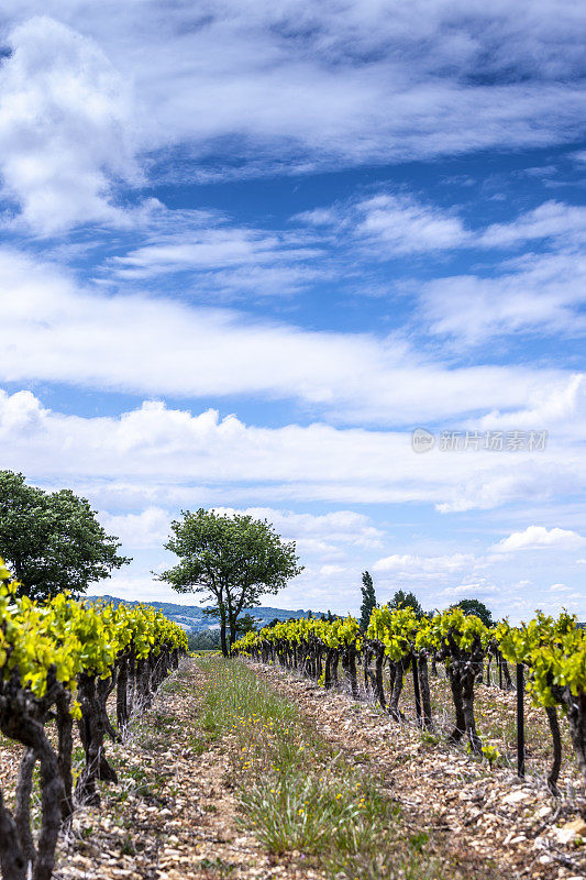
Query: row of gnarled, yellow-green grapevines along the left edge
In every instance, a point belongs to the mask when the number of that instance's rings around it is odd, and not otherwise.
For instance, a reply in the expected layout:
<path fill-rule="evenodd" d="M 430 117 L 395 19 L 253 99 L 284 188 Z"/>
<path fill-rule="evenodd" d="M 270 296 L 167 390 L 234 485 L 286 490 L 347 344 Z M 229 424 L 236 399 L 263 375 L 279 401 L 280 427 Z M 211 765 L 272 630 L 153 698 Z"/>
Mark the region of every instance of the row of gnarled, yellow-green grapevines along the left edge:
<path fill-rule="evenodd" d="M 0 788 L 0 869 L 3 880 L 49 880 L 74 802 L 97 804 L 97 781 L 117 781 L 106 737 L 121 741 L 131 716 L 150 706 L 178 666 L 187 638 L 148 606 L 114 608 L 65 594 L 36 604 L 18 597 L 18 586 L 0 559 L 0 732 L 24 748 L 13 811 Z M 107 711 L 111 695 L 118 729 Z M 85 763 L 74 790 L 76 723 Z M 41 827 L 34 835 L 37 763 Z"/>

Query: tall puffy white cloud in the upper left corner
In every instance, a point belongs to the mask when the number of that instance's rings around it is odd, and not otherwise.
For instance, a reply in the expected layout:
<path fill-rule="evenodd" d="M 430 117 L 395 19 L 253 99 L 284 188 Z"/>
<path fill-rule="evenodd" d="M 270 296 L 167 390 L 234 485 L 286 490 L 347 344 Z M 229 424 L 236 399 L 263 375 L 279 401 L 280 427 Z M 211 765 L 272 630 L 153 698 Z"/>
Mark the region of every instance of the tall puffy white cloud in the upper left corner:
<path fill-rule="evenodd" d="M 113 223 L 114 179 L 137 180 L 128 88 L 92 40 L 48 18 L 9 35 L 0 66 L 4 195 L 35 231 Z"/>

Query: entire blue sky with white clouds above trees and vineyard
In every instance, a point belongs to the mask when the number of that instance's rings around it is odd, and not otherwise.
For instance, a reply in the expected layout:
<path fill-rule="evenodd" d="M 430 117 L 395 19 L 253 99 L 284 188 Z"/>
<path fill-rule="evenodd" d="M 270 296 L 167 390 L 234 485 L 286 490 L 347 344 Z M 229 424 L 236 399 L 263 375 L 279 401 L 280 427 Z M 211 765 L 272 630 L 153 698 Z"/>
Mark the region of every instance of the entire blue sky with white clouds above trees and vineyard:
<path fill-rule="evenodd" d="M 213 507 L 297 541 L 265 604 L 586 619 L 585 22 L 4 0 L 0 468 L 120 537 L 93 594 L 198 604 Z"/>

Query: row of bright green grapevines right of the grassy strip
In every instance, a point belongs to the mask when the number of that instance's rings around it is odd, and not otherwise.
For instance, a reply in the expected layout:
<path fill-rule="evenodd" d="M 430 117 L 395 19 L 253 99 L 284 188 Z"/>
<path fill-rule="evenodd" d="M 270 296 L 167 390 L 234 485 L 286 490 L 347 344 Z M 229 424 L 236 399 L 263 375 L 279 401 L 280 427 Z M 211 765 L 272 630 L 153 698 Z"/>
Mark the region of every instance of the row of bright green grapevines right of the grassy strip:
<path fill-rule="evenodd" d="M 324 688 L 338 684 L 339 666 L 350 691 L 360 696 L 358 664 L 364 683 L 378 704 L 400 722 L 399 700 L 405 675 L 413 674 L 418 724 L 433 728 L 430 697 L 430 663 L 443 663 L 450 682 L 454 726 L 449 741 L 467 738 L 475 755 L 489 760 L 491 747 L 483 745 L 477 732 L 475 688 L 490 680 L 495 660 L 505 688 L 512 690 L 508 663 L 517 667 L 518 686 L 518 767 L 524 771 L 522 737 L 523 700 L 527 688 L 533 702 L 548 716 L 552 736 L 553 760 L 549 788 L 559 795 L 557 780 L 562 759 L 559 711 L 567 716 L 572 746 L 586 780 L 586 635 L 575 617 L 563 613 L 557 618 L 538 612 L 534 619 L 519 627 L 507 622 L 486 627 L 474 615 L 453 608 L 432 617 L 418 617 L 411 608 L 375 608 L 366 632 L 349 616 L 332 622 L 299 619 L 248 632 L 234 645 L 235 651 L 257 662 L 279 663 L 295 669 Z M 388 667 L 389 696 L 385 694 L 384 670 Z"/>

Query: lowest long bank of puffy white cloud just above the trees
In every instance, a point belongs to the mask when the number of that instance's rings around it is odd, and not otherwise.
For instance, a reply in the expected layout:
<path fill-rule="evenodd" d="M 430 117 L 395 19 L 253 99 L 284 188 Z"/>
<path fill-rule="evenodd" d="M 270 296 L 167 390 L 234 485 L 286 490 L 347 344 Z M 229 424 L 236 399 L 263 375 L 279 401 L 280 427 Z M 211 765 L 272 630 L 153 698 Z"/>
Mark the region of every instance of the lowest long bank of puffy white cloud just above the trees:
<path fill-rule="evenodd" d="M 30 393 L 0 393 L 3 465 L 44 483 L 75 483 L 101 509 L 269 503 L 288 534 L 376 548 L 379 535 L 362 515 L 318 518 L 278 514 L 284 499 L 336 504 L 418 503 L 439 509 L 495 507 L 512 499 L 556 497 L 584 480 L 579 450 L 542 453 L 417 455 L 408 432 L 336 429 L 323 424 L 246 426 L 215 410 L 191 415 L 146 403 L 120 417 L 53 413 Z M 541 458 L 540 458 L 541 457 Z M 254 505 L 252 507 L 251 505 Z M 140 524 L 135 524 L 140 525 Z"/>

